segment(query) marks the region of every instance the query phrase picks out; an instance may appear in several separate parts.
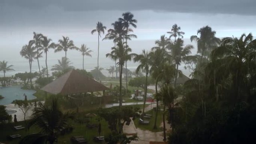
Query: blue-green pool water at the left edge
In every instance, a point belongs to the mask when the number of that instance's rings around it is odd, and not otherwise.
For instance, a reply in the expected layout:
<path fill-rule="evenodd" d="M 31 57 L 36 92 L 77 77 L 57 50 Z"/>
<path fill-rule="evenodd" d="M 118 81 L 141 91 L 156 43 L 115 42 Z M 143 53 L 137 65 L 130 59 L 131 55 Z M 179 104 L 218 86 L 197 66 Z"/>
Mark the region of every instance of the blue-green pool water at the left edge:
<path fill-rule="evenodd" d="M 0 105 L 8 105 L 11 104 L 13 100 L 24 100 L 25 95 L 27 95 L 27 99 L 35 99 L 36 96 L 33 94 L 36 91 L 33 90 L 25 90 L 21 89 L 21 86 L 6 86 L 6 87 L 0 87 L 0 95 L 2 95 L 4 98 L 0 99 Z"/>

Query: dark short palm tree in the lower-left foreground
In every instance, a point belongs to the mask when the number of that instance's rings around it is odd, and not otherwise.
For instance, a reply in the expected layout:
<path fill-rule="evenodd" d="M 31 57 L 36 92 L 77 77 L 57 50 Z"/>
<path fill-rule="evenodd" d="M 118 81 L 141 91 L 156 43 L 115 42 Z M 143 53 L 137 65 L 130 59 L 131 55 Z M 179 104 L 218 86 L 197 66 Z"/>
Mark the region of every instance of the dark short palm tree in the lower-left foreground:
<path fill-rule="evenodd" d="M 58 107 L 57 98 L 53 98 L 51 105 L 44 104 L 34 109 L 31 119 L 27 125 L 28 129 L 31 126 L 37 126 L 42 129 L 42 133 L 48 135 L 46 142 L 53 144 L 57 141 L 57 136 L 60 129 L 67 127 L 68 121 L 74 118 L 73 113 L 63 113 Z"/>

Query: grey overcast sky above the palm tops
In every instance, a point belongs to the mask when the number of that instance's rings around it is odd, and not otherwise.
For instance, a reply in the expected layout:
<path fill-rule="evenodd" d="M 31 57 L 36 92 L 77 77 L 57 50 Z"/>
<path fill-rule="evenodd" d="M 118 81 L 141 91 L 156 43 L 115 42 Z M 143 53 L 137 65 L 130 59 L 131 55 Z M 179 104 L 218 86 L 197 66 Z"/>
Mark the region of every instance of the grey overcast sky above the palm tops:
<path fill-rule="evenodd" d="M 255 8 L 256 0 L 0 0 L 0 57 L 9 58 L 9 50 L 17 50 L 18 56 L 33 31 L 54 42 L 68 36 L 77 46 L 85 43 L 96 57 L 97 35 L 91 35 L 96 22 L 110 28 L 127 11 L 138 21 L 134 29 L 138 39 L 129 42 L 134 52 L 150 49 L 173 24 L 181 27 L 185 38 L 205 25 L 217 37 L 256 34 Z M 100 57 L 111 46 L 111 42 L 101 42 Z"/>

